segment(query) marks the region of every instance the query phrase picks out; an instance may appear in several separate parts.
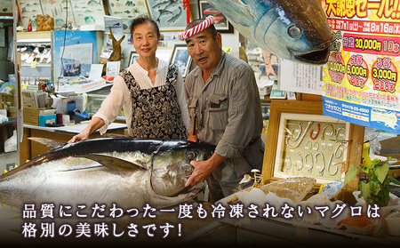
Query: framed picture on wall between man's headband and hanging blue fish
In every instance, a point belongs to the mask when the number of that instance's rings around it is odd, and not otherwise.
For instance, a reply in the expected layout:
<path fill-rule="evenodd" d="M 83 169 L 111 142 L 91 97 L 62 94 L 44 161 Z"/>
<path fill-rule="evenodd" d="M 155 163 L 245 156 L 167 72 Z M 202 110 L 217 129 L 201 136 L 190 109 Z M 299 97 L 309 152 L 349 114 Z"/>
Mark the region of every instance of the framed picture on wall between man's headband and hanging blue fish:
<path fill-rule="evenodd" d="M 220 33 L 234 33 L 234 28 L 228 18 L 221 12 L 215 10 L 211 4 L 204 0 L 197 0 L 198 2 L 198 16 L 206 18 L 212 15 L 215 19 L 214 27 Z"/>

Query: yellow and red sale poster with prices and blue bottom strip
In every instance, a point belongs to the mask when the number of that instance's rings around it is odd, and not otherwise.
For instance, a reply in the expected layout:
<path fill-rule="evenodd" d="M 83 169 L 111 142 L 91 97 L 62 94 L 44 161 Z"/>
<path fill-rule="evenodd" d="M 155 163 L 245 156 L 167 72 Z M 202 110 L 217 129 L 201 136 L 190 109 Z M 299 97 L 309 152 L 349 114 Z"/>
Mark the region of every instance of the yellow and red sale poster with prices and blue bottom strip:
<path fill-rule="evenodd" d="M 400 133 L 400 21 L 394 1 L 322 1 L 334 30 L 324 115 Z"/>

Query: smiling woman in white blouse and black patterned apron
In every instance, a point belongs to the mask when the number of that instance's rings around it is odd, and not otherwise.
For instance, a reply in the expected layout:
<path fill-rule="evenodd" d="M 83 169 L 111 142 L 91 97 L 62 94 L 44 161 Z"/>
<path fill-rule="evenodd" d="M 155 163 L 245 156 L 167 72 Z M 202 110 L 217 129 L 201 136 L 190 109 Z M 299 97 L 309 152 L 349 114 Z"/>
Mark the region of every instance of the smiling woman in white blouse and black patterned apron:
<path fill-rule="evenodd" d="M 186 140 L 189 118 L 183 78 L 178 66 L 156 58 L 160 39 L 156 22 L 136 18 L 131 34 L 139 59 L 116 76 L 92 121 L 68 142 L 88 139 L 97 130 L 103 134 L 123 108 L 133 137 Z"/>

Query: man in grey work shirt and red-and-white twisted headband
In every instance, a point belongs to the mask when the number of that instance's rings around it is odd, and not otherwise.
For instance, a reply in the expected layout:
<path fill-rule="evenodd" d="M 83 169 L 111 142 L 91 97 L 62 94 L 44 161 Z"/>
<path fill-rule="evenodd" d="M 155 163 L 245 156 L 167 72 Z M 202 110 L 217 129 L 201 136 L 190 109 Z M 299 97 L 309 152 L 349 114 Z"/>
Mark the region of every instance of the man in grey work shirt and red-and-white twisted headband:
<path fill-rule="evenodd" d="M 187 186 L 207 180 L 210 201 L 215 202 L 233 194 L 244 174 L 261 171 L 264 144 L 260 95 L 252 68 L 221 50 L 220 33 L 208 20 L 189 23 L 180 39 L 186 41 L 197 65 L 185 80 L 189 127 L 196 120 L 196 132 L 189 130 L 188 140 L 217 146 L 208 160 L 191 162 L 195 170 Z"/>

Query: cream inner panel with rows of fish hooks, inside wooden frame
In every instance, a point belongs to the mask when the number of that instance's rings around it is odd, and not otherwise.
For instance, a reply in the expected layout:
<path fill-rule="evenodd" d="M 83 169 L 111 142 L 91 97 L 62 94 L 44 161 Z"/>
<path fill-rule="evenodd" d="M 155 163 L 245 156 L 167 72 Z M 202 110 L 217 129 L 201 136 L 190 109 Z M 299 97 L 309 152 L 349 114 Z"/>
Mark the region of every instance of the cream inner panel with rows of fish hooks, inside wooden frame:
<path fill-rule="evenodd" d="M 281 114 L 274 175 L 311 176 L 321 182 L 343 180 L 349 123 L 328 116 Z"/>

